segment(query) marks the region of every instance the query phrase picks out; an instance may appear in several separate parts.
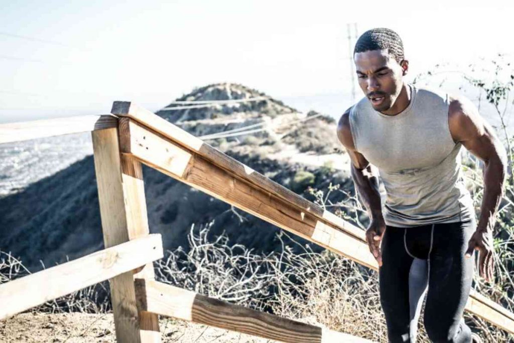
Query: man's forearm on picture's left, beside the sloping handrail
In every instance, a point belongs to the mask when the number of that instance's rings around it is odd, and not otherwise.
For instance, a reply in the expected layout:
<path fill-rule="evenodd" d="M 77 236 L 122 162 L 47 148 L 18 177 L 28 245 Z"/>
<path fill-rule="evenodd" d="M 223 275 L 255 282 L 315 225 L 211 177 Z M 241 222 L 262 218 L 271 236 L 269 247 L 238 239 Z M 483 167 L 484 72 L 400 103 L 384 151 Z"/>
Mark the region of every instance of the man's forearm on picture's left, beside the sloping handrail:
<path fill-rule="evenodd" d="M 364 207 L 368 210 L 370 218 L 383 222 L 380 192 L 378 191 L 378 177 L 372 173 L 371 166 L 360 170 L 352 164 L 350 170 L 355 189 L 359 193 Z"/>

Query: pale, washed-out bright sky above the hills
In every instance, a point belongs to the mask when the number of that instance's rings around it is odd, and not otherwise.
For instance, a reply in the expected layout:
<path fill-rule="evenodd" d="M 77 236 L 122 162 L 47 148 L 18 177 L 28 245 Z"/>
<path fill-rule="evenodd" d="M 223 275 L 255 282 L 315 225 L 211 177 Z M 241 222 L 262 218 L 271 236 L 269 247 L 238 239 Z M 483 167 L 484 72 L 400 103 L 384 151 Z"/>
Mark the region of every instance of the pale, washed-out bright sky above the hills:
<path fill-rule="evenodd" d="M 514 2 L 503 0 L 0 0 L 0 8 L 0 122 L 105 114 L 115 100 L 156 111 L 217 82 L 338 116 L 352 102 L 355 27 L 397 31 L 408 80 L 435 64 L 465 71 L 480 58 L 514 56 Z"/>

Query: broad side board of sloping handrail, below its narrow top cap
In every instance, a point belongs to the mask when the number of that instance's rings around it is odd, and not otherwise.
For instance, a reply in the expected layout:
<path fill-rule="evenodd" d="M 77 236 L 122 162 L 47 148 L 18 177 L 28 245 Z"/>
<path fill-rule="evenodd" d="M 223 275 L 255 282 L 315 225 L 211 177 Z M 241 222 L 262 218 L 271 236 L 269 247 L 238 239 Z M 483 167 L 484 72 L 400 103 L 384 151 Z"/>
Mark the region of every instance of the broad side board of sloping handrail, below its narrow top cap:
<path fill-rule="evenodd" d="M 169 138 L 153 133 L 129 118 L 120 118 L 120 149 L 143 163 L 192 187 L 232 204 L 338 254 L 377 268 L 368 246 L 345 231 L 321 222 L 283 198 L 265 192 L 219 168 Z M 360 243 L 360 244 L 358 244 Z"/>

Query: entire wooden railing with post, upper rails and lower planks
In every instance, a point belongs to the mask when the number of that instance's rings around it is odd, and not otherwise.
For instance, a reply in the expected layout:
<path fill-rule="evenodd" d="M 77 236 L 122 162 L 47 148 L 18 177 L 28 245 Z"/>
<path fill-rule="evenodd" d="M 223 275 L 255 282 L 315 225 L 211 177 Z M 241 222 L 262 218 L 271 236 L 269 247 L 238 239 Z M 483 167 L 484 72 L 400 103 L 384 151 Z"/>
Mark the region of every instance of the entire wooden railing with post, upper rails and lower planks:
<path fill-rule="evenodd" d="M 151 262 L 162 257 L 162 243 L 149 234 L 141 164 L 377 270 L 361 229 L 133 103 L 82 118 L 81 128 L 80 118 L 69 127 L 64 119 L 40 122 L 58 124 L 52 135 L 92 131 L 106 249 L 0 285 L 0 303 L 10 304 L 0 319 L 109 279 L 120 342 L 159 342 L 158 315 L 285 342 L 368 341 L 155 281 Z M 0 142 L 49 136 L 34 123 L 0 125 Z M 466 310 L 514 333 L 514 314 L 476 292 Z"/>

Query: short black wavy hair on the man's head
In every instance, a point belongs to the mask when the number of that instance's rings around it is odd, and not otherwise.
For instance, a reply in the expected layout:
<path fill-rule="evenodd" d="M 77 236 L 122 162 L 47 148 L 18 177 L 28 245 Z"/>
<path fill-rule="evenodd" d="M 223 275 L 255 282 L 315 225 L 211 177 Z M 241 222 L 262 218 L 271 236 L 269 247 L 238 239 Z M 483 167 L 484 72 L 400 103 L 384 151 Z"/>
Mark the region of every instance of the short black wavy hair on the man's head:
<path fill-rule="evenodd" d="M 403 57 L 403 43 L 398 33 L 387 28 L 368 30 L 355 43 L 354 55 L 357 52 L 387 49 L 389 54 L 400 63 Z"/>

